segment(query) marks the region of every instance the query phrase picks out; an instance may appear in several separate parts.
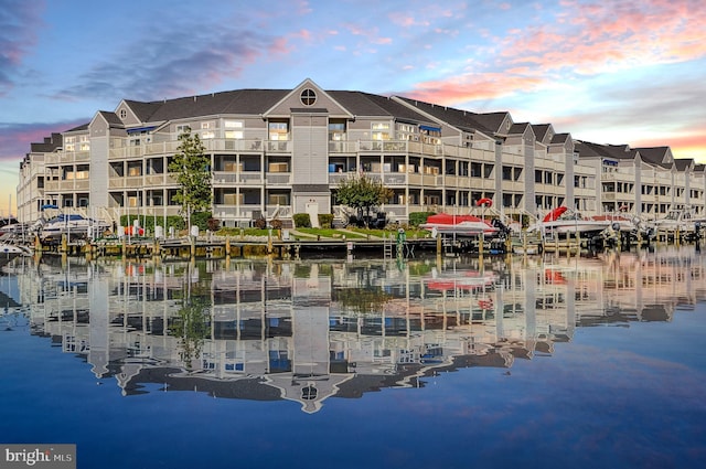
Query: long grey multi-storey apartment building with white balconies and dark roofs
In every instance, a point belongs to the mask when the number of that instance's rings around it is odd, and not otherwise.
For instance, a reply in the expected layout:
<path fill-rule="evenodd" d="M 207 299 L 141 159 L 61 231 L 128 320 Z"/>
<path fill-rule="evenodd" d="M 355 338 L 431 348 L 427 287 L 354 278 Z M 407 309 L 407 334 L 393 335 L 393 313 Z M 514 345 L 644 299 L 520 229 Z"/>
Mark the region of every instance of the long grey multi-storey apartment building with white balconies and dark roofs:
<path fill-rule="evenodd" d="M 224 226 L 301 212 L 343 217 L 336 186 L 359 174 L 393 191 L 382 211 L 399 222 L 413 212 L 468 213 L 483 198 L 515 218 L 559 205 L 597 214 L 627 204 L 655 215 L 704 205 L 703 166 L 675 163 L 668 148 L 660 159 L 652 149 L 577 146 L 550 124 L 514 122 L 510 113 L 325 90 L 304 79 L 292 89 L 124 99 L 97 111 L 32 143 L 21 163 L 19 220 L 36 220 L 47 204 L 106 220 L 176 215 L 168 167 L 186 128 L 211 158 L 212 212 Z"/>

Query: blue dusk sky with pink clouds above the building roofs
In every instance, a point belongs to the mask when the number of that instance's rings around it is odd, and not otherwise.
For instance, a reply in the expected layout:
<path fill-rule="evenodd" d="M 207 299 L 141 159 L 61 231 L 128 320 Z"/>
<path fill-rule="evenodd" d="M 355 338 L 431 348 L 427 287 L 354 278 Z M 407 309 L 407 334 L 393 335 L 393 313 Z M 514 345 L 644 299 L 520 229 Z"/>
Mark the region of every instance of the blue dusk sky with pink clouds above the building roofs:
<path fill-rule="evenodd" d="M 700 0 L 0 0 L 0 214 L 30 142 L 120 99 L 306 78 L 706 162 Z"/>

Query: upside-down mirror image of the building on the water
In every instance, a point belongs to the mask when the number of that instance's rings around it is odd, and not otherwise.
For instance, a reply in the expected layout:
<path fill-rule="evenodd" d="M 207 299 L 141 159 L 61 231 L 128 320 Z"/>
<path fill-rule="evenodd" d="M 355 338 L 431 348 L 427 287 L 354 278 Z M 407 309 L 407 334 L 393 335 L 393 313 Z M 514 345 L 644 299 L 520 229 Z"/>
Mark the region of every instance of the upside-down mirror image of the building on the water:
<path fill-rule="evenodd" d="M 195 390 L 308 413 L 442 371 L 509 372 L 552 355 L 576 327 L 670 321 L 706 289 L 700 256 L 677 249 L 483 265 L 54 263 L 10 267 L 33 333 L 124 395 Z"/>

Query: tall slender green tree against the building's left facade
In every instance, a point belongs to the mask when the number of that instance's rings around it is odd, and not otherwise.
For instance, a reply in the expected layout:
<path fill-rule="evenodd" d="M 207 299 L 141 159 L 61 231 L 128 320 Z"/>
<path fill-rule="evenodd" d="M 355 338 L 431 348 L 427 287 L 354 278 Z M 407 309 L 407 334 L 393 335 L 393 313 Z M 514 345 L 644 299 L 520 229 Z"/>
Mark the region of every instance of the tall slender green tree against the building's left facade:
<path fill-rule="evenodd" d="M 176 174 L 176 182 L 181 186 L 181 191 L 174 195 L 174 202 L 181 204 L 181 214 L 189 221 L 192 213 L 211 209 L 211 158 L 204 153 L 206 148 L 197 134 L 192 135 L 188 129 L 179 136 L 179 141 L 169 171 Z"/>

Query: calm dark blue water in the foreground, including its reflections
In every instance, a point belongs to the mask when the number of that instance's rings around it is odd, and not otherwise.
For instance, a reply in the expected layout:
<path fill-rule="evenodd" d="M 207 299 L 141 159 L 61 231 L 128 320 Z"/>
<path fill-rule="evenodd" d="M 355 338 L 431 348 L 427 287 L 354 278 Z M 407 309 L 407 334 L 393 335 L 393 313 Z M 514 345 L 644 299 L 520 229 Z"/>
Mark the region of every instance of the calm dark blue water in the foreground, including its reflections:
<path fill-rule="evenodd" d="M 15 259 L 0 443 L 79 468 L 706 467 L 706 256 Z"/>

